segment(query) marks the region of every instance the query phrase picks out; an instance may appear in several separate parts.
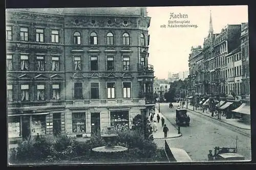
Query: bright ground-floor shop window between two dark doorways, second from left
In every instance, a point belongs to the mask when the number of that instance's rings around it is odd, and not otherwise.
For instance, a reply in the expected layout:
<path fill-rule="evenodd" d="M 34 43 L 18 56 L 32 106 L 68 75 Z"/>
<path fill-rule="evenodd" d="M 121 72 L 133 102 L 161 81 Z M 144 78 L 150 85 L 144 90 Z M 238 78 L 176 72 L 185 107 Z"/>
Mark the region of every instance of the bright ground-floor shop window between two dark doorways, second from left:
<path fill-rule="evenodd" d="M 33 115 L 31 123 L 31 133 L 32 136 L 46 134 L 46 116 L 45 115 Z"/>

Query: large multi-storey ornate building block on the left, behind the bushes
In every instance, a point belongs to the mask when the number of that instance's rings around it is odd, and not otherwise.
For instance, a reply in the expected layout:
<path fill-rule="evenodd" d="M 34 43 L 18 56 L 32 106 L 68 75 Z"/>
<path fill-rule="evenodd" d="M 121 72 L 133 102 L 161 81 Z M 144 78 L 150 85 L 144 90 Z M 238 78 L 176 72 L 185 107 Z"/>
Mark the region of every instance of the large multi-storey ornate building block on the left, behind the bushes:
<path fill-rule="evenodd" d="M 8 137 L 131 128 L 154 107 L 146 8 L 8 9 Z"/>

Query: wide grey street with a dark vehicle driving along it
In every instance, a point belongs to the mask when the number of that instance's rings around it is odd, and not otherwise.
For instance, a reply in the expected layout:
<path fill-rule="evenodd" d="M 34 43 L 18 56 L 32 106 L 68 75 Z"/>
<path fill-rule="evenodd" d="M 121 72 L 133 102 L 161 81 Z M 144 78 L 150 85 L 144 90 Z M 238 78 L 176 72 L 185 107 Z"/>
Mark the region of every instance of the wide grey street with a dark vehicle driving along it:
<path fill-rule="evenodd" d="M 160 112 L 177 127 L 175 109 L 179 104 L 173 103 L 173 105 L 174 108 L 170 109 L 169 103 L 161 103 Z M 156 109 L 158 109 L 158 105 L 156 105 Z M 188 110 L 187 115 L 190 117 L 190 126 L 180 127 L 181 137 L 166 140 L 171 147 L 184 149 L 193 161 L 207 161 L 209 150 L 214 153 L 216 146 L 236 148 L 236 138 L 238 137 L 238 153 L 245 156 L 246 160 L 251 159 L 250 137 L 221 126 L 204 116 L 199 116 L 193 111 Z"/>

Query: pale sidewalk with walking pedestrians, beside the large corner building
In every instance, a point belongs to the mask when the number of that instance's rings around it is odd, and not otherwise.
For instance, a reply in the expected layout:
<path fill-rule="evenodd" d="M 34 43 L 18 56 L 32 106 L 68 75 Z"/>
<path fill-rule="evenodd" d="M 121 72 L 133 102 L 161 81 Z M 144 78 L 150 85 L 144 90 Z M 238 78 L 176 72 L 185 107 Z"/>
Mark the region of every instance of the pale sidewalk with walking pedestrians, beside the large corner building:
<path fill-rule="evenodd" d="M 156 120 L 157 122 L 157 114 L 159 114 L 160 116 L 160 120 L 159 123 L 157 123 L 157 131 L 153 132 L 153 136 L 154 139 L 168 139 L 168 138 L 175 138 L 175 137 L 180 137 L 181 133 L 178 134 L 178 130 L 175 128 L 175 126 L 173 126 L 169 120 L 167 120 L 164 115 L 162 115 L 162 113 L 158 113 L 157 109 L 155 110 L 155 115 L 153 117 L 153 121 Z M 151 115 L 150 115 L 151 116 Z M 150 116 L 148 118 L 150 118 Z M 161 118 L 164 118 L 164 124 L 166 124 L 166 127 L 169 129 L 169 131 L 167 132 L 167 137 L 164 138 L 164 133 L 163 133 L 163 127 L 162 127 L 162 123 L 161 123 Z M 153 126 L 153 123 L 151 123 Z"/>

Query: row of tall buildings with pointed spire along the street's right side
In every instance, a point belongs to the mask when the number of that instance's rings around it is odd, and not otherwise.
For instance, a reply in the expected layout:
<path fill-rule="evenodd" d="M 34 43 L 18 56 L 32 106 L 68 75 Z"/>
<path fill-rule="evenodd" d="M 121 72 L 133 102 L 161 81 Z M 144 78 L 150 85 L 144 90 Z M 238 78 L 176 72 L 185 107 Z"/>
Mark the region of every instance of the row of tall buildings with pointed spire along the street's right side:
<path fill-rule="evenodd" d="M 250 106 L 248 42 L 248 23 L 227 25 L 214 33 L 210 16 L 203 47 L 191 47 L 188 60 L 188 93 L 196 104 L 212 98 L 227 101 L 233 108 L 241 103 Z"/>

